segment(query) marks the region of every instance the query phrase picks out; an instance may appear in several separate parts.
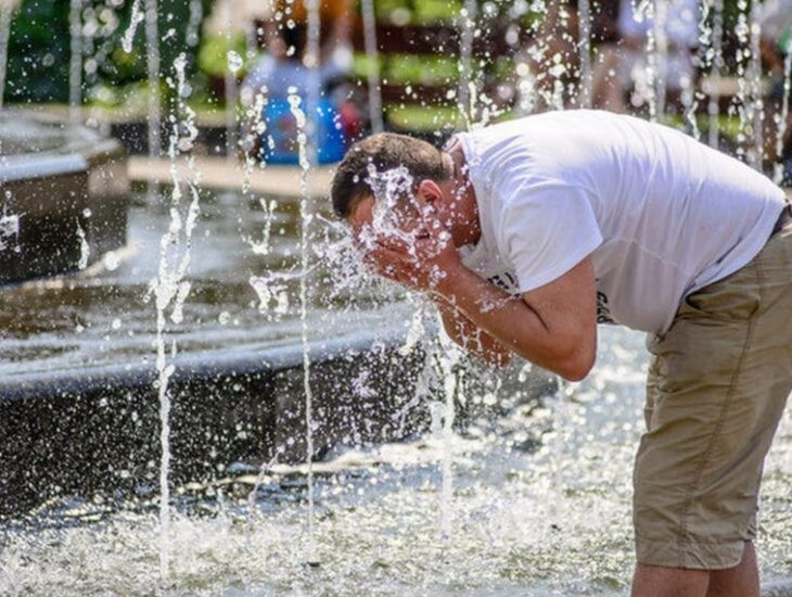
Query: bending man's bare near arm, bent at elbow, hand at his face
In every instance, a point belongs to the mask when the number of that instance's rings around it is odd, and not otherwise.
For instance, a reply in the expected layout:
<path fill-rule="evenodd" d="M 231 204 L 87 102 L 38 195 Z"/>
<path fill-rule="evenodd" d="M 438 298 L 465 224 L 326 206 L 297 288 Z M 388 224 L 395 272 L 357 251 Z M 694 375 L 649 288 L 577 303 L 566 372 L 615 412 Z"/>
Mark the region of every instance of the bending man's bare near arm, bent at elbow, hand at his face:
<path fill-rule="evenodd" d="M 383 276 L 454 305 L 502 346 L 540 367 L 580 380 L 593 366 L 597 292 L 589 257 L 522 300 L 464 267 L 437 225 L 411 251 L 383 239 L 367 261 Z"/>

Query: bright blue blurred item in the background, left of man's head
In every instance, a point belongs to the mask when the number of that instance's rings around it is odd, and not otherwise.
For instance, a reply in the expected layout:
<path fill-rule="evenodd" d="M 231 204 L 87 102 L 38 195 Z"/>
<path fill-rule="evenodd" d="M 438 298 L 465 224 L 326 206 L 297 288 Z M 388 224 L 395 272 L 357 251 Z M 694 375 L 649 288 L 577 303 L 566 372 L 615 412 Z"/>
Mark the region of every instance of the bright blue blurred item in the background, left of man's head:
<path fill-rule="evenodd" d="M 303 103 L 305 107 L 305 103 Z M 310 117 L 309 114 L 306 114 Z M 286 100 L 273 99 L 264 110 L 267 130 L 261 154 L 268 164 L 299 164 L 297 119 Z M 333 102 L 321 99 L 316 107 L 318 158 L 320 164 L 340 162 L 346 152 L 346 139 L 338 111 Z"/>

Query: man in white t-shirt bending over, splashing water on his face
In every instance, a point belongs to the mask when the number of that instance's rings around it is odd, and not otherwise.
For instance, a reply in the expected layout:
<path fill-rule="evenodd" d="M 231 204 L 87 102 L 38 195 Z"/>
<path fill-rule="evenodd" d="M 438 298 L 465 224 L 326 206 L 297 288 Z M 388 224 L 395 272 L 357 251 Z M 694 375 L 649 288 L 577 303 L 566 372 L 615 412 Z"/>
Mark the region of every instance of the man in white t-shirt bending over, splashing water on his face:
<path fill-rule="evenodd" d="M 383 233 L 371 185 L 397 167 L 412 186 L 399 233 Z M 759 594 L 759 478 L 792 389 L 780 189 L 670 128 L 571 111 L 460 134 L 443 152 L 371 137 L 338 166 L 332 200 L 365 258 L 431 295 L 485 358 L 579 380 L 598 320 L 651 332 L 634 595 Z"/>

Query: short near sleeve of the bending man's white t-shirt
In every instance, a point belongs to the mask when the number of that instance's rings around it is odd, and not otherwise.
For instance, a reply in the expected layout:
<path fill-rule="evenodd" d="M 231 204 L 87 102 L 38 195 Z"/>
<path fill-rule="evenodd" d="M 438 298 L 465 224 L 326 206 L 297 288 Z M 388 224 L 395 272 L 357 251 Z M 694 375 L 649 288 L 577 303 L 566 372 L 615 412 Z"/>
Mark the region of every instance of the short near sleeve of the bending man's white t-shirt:
<path fill-rule="evenodd" d="M 500 211 L 500 250 L 521 293 L 560 278 L 602 243 L 585 189 L 550 183 L 510 194 Z"/>

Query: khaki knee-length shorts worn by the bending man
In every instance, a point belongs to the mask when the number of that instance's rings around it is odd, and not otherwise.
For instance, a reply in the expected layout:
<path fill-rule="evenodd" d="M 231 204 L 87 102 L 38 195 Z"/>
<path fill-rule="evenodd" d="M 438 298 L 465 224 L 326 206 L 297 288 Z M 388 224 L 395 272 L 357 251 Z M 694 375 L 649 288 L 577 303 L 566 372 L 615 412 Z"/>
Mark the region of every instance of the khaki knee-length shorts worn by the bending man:
<path fill-rule="evenodd" d="M 686 297 L 649 350 L 638 562 L 734 567 L 756 533 L 764 460 L 792 390 L 792 228 Z"/>

